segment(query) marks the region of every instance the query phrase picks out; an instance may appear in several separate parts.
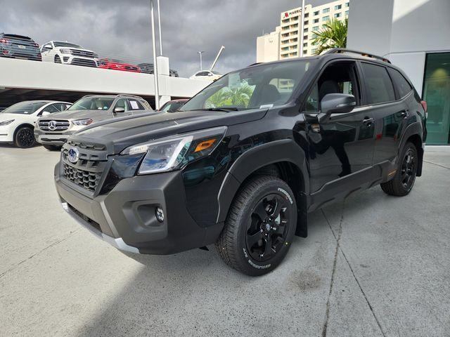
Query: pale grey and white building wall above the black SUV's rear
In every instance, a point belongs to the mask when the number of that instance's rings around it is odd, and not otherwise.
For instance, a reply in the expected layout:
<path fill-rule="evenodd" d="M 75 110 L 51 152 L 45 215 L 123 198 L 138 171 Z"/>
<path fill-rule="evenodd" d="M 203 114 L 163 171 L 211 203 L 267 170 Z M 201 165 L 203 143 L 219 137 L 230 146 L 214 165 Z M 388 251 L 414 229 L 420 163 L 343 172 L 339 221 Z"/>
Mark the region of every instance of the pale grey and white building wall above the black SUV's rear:
<path fill-rule="evenodd" d="M 350 8 L 347 48 L 389 58 L 421 95 L 426 53 L 450 51 L 450 0 L 350 0 Z"/>

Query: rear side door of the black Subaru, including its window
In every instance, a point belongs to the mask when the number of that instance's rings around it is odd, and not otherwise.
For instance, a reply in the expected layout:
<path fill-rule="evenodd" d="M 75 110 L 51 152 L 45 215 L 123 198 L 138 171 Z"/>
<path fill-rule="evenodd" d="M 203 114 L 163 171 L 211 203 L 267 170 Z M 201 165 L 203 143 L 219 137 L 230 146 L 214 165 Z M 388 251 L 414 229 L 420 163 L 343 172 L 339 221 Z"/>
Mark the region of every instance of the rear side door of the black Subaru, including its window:
<path fill-rule="evenodd" d="M 401 131 L 408 114 L 404 100 L 398 99 L 387 67 L 361 61 L 365 104 L 375 118 L 373 164 L 393 161 L 397 156 Z"/>

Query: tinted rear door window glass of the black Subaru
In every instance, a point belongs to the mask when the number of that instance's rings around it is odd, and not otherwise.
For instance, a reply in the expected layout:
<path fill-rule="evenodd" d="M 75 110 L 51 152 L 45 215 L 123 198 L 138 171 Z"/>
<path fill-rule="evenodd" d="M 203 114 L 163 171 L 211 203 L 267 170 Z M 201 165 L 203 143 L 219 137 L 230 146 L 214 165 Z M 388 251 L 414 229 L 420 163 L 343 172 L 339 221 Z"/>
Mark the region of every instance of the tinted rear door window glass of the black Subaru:
<path fill-rule="evenodd" d="M 366 84 L 366 103 L 387 103 L 395 100 L 394 86 L 385 67 L 361 63 Z"/>

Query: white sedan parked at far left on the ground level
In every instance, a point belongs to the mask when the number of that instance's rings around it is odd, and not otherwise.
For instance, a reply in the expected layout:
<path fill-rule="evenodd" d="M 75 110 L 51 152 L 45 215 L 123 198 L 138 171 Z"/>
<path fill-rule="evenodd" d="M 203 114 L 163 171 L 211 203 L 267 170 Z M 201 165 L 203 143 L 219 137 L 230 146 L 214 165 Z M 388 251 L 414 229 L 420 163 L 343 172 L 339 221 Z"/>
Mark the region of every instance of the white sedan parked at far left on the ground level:
<path fill-rule="evenodd" d="M 0 143 L 13 143 L 17 147 L 34 145 L 34 124 L 41 116 L 60 112 L 72 103 L 54 100 L 27 100 L 0 112 Z"/>

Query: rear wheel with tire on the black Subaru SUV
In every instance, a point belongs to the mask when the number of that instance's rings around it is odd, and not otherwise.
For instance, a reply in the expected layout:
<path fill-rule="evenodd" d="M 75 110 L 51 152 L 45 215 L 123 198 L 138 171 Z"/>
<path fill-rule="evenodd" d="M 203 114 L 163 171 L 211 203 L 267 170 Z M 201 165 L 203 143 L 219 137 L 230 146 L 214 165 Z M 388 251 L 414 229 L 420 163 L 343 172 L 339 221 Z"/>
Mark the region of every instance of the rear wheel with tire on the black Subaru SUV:
<path fill-rule="evenodd" d="M 413 143 L 406 143 L 401 154 L 401 161 L 394 178 L 381 184 L 381 189 L 390 195 L 403 197 L 411 192 L 418 169 L 418 154 Z"/>

